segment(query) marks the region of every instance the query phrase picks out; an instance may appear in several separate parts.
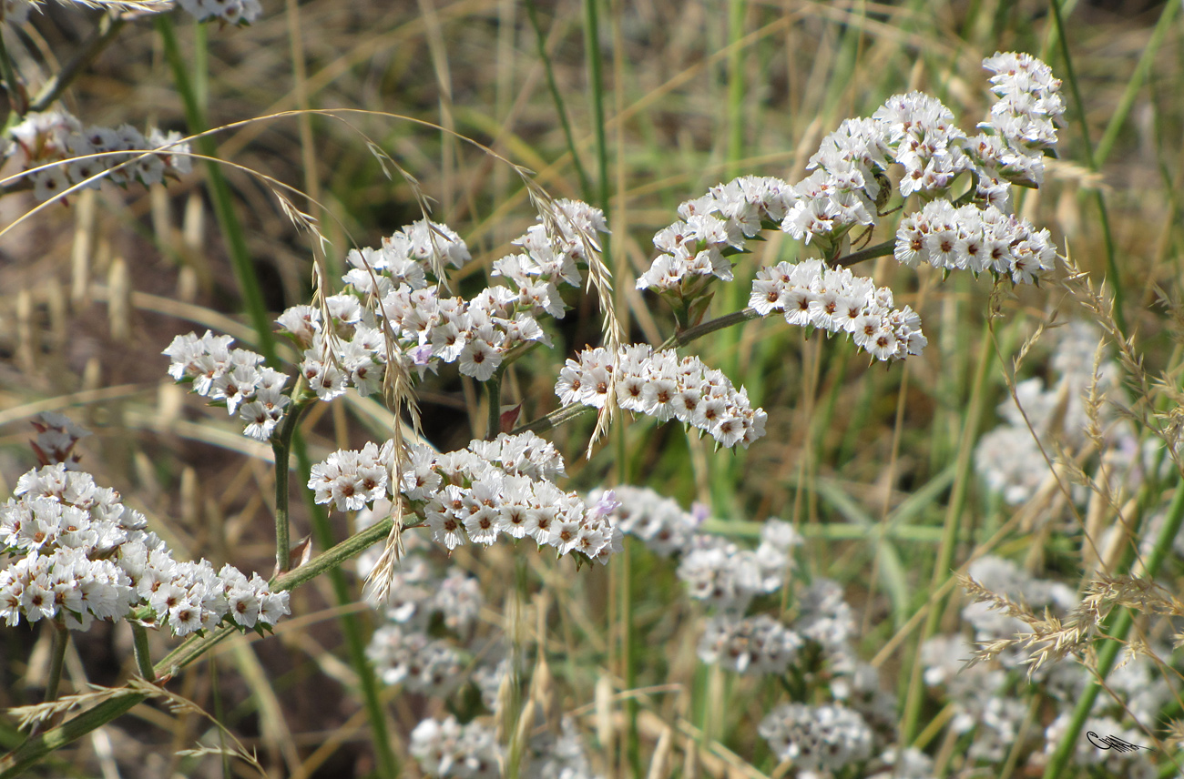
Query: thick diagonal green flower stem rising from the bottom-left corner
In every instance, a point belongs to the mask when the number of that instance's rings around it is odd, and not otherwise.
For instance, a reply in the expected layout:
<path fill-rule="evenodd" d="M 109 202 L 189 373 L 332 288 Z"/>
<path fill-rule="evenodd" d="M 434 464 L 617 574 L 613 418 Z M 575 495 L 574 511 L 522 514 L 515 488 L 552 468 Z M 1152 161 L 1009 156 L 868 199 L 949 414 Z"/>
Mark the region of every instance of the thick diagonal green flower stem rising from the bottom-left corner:
<path fill-rule="evenodd" d="M 393 520 L 386 519 L 354 534 L 295 571 L 272 579 L 271 590 L 275 592 L 294 590 L 327 571 L 337 568 L 346 560 L 361 554 L 365 549 L 386 539 L 387 534 L 391 533 L 392 524 Z M 418 523 L 411 523 L 405 527 L 418 527 Z M 163 681 L 175 676 L 181 668 L 201 657 L 215 644 L 238 635 L 238 632 L 237 627 L 223 626 L 205 636 L 191 637 L 156 663 L 153 669 L 153 677 Z M 136 693 L 130 689 L 121 691 L 94 708 L 83 712 L 72 720 L 36 738 L 30 738 L 20 747 L 0 758 L 0 779 L 11 779 L 24 773 L 54 749 L 59 749 L 71 741 L 101 728 L 117 716 L 129 712 L 137 703 L 147 701 L 148 697 L 143 693 Z"/>

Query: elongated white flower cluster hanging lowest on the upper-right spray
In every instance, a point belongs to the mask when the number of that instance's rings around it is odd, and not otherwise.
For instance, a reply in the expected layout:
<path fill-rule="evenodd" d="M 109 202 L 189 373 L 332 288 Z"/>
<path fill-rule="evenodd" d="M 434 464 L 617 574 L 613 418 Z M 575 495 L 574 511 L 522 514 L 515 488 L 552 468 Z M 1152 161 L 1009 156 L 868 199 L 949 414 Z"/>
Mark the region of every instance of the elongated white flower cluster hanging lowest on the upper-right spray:
<path fill-rule="evenodd" d="M 819 259 L 760 269 L 748 305 L 761 316 L 784 311 L 790 324 L 847 333 L 877 360 L 903 360 L 928 343 L 921 317 L 908 305 L 893 308 L 890 289 L 847 268 L 826 268 Z"/>

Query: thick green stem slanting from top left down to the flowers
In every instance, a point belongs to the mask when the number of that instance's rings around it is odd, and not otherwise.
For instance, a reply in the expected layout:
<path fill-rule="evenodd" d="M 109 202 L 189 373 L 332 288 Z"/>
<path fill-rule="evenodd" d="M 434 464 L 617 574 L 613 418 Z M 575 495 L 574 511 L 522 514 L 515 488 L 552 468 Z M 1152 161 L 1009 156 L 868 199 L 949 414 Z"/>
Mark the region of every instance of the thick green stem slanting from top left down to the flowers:
<path fill-rule="evenodd" d="M 199 101 L 198 90 L 194 89 L 194 84 L 189 81 L 189 73 L 181 58 L 181 50 L 176 43 L 173 20 L 168 14 L 160 14 L 155 18 L 155 24 L 156 31 L 165 44 L 165 58 L 168 59 L 169 67 L 173 70 L 176 91 L 180 92 L 181 101 L 185 104 L 185 120 L 189 124 L 189 133 L 194 135 L 202 133 L 206 130 L 205 111 Z M 202 53 L 199 52 L 195 59 L 204 62 Z M 199 82 L 202 81 L 200 69 L 197 78 Z M 205 156 L 218 156 L 218 147 L 212 137 L 201 136 L 197 139 L 197 144 L 198 150 Z M 251 252 L 246 246 L 246 236 L 234 211 L 234 200 L 231 197 L 230 187 L 226 185 L 226 179 L 223 176 L 221 167 L 218 162 L 213 160 L 206 161 L 206 176 L 210 185 L 210 199 L 213 201 L 214 213 L 218 217 L 218 225 L 223 237 L 226 239 L 231 268 L 243 291 L 243 305 L 246 308 L 247 315 L 251 317 L 251 326 L 255 328 L 258 341 L 256 346 L 263 356 L 266 358 L 269 365 L 278 367 L 279 361 L 276 356 L 275 336 L 271 333 L 271 317 L 263 302 L 259 281 L 251 264 Z"/>

